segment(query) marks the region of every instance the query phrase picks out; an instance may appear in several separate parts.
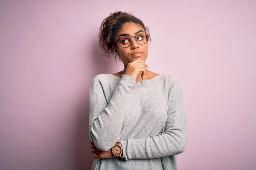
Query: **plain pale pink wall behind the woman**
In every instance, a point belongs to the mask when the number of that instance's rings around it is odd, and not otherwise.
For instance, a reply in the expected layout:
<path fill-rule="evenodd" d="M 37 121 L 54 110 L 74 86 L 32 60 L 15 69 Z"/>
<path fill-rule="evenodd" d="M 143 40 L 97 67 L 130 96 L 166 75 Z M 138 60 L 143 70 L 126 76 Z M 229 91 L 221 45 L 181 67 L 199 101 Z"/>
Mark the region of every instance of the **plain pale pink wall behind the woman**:
<path fill-rule="evenodd" d="M 255 169 L 255 0 L 1 0 L 0 169 L 90 169 L 90 81 L 123 69 L 97 33 L 117 10 L 149 27 L 149 70 L 183 90 L 179 170 Z"/>

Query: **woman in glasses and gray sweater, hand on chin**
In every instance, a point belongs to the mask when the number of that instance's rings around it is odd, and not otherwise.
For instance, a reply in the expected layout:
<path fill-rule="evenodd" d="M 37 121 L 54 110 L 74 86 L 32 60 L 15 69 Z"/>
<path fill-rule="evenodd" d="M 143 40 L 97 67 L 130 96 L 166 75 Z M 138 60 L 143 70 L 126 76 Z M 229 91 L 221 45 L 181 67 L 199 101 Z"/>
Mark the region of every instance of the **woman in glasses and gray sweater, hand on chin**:
<path fill-rule="evenodd" d="M 103 20 L 99 44 L 124 69 L 93 78 L 89 92 L 93 170 L 176 170 L 187 141 L 179 84 L 146 69 L 148 28 L 125 12 Z"/>

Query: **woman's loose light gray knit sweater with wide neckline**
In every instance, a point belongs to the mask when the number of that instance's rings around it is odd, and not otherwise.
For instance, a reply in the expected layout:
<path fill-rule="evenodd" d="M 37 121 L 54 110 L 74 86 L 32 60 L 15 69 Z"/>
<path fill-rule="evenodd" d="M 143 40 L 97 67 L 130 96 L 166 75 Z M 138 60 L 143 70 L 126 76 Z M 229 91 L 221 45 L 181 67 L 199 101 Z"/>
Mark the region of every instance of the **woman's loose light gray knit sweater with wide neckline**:
<path fill-rule="evenodd" d="M 171 75 L 137 82 L 99 74 L 89 91 L 90 139 L 108 151 L 121 142 L 122 158 L 94 159 L 92 170 L 177 170 L 187 122 L 179 84 Z"/>

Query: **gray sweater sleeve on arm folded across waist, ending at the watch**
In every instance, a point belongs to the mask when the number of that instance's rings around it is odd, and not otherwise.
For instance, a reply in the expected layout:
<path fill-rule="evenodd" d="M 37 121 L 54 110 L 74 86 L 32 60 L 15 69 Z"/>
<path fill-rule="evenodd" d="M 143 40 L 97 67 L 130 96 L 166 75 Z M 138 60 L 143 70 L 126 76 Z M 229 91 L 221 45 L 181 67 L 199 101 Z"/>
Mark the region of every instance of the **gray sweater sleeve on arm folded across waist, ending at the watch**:
<path fill-rule="evenodd" d="M 168 94 L 166 130 L 156 136 L 119 141 L 123 148 L 121 159 L 154 159 L 182 153 L 187 142 L 186 123 L 182 91 L 175 81 Z"/>

